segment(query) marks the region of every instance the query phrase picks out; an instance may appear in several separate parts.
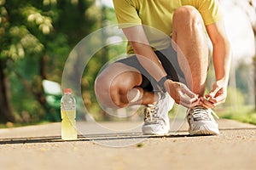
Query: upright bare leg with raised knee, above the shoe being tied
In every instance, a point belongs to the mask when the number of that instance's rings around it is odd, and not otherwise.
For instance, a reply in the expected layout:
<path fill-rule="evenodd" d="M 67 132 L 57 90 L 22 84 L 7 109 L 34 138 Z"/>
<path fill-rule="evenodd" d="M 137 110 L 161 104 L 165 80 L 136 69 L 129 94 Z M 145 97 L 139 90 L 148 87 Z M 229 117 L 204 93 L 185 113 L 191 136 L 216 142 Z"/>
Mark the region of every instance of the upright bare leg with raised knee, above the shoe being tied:
<path fill-rule="evenodd" d="M 207 36 L 201 14 L 194 7 L 177 8 L 173 15 L 172 40 L 176 42 L 172 46 L 189 88 L 203 96 L 208 67 Z"/>

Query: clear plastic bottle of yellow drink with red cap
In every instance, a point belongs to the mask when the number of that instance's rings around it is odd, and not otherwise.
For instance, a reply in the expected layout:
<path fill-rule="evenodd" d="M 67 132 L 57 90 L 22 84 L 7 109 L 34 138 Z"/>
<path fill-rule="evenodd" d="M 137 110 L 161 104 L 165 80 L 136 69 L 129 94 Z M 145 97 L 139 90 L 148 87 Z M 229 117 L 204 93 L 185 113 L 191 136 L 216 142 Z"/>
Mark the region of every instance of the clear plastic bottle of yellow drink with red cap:
<path fill-rule="evenodd" d="M 76 123 L 76 100 L 71 88 L 65 88 L 61 98 L 61 139 L 78 139 Z"/>

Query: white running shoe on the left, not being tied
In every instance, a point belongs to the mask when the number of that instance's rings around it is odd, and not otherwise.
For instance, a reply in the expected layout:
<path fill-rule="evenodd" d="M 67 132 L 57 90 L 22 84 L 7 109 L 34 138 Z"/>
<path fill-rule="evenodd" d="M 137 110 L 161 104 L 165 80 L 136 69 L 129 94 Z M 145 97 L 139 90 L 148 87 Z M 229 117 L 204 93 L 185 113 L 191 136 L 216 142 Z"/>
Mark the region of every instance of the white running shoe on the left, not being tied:
<path fill-rule="evenodd" d="M 158 93 L 159 99 L 144 109 L 143 134 L 164 135 L 169 133 L 170 121 L 168 112 L 174 100 L 168 93 Z"/>

